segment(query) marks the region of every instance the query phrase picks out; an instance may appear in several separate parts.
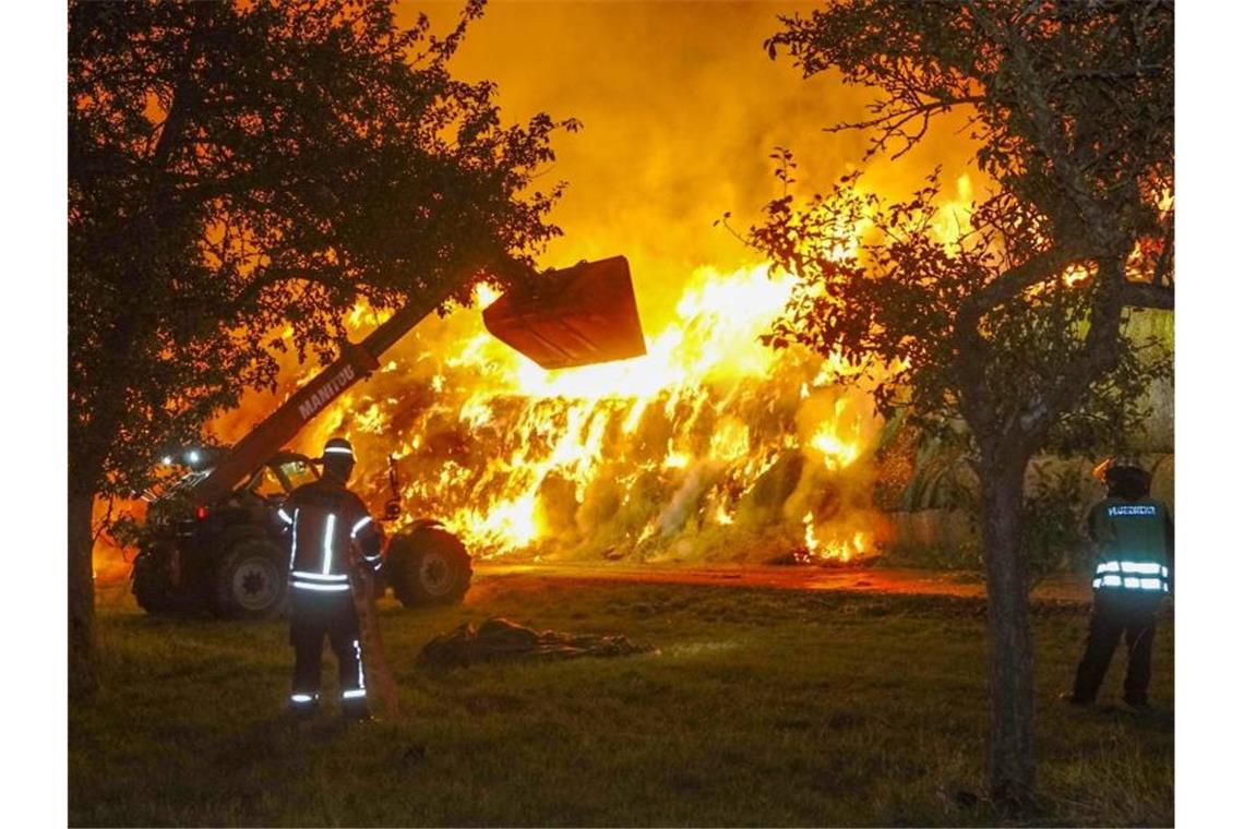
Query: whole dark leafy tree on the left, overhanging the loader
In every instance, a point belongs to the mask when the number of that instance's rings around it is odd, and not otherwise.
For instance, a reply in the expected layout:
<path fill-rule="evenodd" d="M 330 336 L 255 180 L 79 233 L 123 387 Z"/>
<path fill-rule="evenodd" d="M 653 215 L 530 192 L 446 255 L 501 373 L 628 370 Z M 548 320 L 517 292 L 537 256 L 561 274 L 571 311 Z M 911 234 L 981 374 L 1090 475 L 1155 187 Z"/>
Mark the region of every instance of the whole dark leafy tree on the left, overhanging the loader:
<path fill-rule="evenodd" d="M 489 82 L 387 4 L 71 2 L 70 676 L 95 685 L 92 505 L 169 447 L 321 362 L 360 300 L 465 300 L 557 232 L 550 134 L 503 127 Z"/>

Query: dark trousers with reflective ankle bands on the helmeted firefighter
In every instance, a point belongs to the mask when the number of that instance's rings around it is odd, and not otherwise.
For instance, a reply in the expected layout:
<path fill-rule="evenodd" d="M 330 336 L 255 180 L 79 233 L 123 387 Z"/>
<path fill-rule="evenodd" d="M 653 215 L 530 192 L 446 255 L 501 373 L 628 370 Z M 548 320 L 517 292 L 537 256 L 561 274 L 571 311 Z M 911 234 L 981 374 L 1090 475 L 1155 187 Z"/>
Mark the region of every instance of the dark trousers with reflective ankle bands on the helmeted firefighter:
<path fill-rule="evenodd" d="M 358 616 L 348 592 L 310 593 L 291 590 L 290 644 L 294 645 L 294 690 L 290 705 L 295 711 L 312 710 L 320 700 L 320 660 L 328 638 L 337 656 L 337 676 L 342 713 L 367 713 L 367 686 L 363 680 L 363 654 L 358 641 Z"/>

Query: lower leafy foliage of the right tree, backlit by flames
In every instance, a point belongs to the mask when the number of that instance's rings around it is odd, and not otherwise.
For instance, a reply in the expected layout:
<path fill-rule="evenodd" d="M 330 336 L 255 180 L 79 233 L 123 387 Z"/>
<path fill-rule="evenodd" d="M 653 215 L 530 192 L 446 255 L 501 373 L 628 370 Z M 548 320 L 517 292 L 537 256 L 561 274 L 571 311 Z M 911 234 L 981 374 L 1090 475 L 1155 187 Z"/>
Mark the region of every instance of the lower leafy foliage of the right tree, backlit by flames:
<path fill-rule="evenodd" d="M 1085 359 L 1091 280 L 1072 281 L 1070 257 L 1045 241 L 1039 216 L 1023 216 L 1010 195 L 977 206 L 972 225 L 947 234 L 937 174 L 903 203 L 884 203 L 843 176 L 826 195 L 795 205 L 773 201 L 751 241 L 800 282 L 766 342 L 792 343 L 855 364 L 873 364 L 875 399 L 887 416 L 902 410 L 939 440 L 967 439 L 965 395 L 989 401 L 999 426 L 1019 424 Z M 861 231 L 861 229 L 863 229 Z M 983 313 L 965 350 L 959 312 L 1015 261 L 1050 261 L 1042 278 Z M 1061 266 L 1061 267 L 1060 267 Z M 1148 383 L 1168 377 L 1164 344 L 1133 342 L 1117 328 L 1118 358 L 1072 408 L 1052 419 L 1037 449 L 1111 450 L 1143 419 Z M 973 360 L 968 364 L 968 360 Z"/>

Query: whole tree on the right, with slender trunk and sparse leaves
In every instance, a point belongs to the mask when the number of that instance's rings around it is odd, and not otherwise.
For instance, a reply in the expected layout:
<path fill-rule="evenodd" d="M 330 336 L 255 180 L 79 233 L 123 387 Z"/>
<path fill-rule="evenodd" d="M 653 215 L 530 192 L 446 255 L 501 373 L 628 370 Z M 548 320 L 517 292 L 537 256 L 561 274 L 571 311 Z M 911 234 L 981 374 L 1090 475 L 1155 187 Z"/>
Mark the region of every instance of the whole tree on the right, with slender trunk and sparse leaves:
<path fill-rule="evenodd" d="M 781 20 L 771 56 L 880 92 L 868 117 L 831 131 L 867 131 L 868 157 L 897 157 L 963 113 L 990 180 L 952 232 L 935 174 L 898 204 L 848 175 L 806 201 L 785 193 L 749 239 L 800 280 L 771 344 L 883 364 L 883 413 L 964 426 L 982 485 L 990 788 L 1023 808 L 1035 784 L 1024 474 L 1041 449 L 1117 437 L 1164 365 L 1123 323 L 1174 303 L 1173 4 L 855 0 Z M 789 185 L 792 159 L 780 160 Z"/>

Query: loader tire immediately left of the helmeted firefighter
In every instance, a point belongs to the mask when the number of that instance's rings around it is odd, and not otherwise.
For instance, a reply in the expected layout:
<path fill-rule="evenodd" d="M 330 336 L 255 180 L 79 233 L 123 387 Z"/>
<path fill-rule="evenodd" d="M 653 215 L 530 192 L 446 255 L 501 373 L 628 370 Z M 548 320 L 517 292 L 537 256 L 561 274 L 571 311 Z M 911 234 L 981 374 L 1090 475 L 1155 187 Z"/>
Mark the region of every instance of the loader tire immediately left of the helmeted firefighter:
<path fill-rule="evenodd" d="M 270 619 L 285 609 L 286 557 L 262 536 L 241 538 L 216 567 L 211 611 L 223 619 Z"/>

